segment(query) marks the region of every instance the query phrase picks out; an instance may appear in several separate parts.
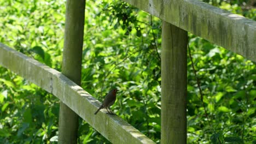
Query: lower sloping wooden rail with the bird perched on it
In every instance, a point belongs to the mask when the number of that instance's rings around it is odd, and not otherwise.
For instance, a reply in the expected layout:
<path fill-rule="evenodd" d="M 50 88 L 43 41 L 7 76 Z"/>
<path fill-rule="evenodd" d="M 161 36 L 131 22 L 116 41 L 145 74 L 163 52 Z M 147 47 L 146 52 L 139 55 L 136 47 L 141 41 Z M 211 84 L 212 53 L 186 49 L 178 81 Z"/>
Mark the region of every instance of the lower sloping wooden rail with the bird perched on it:
<path fill-rule="evenodd" d="M 0 64 L 54 94 L 112 143 L 154 143 L 118 116 L 94 112 L 100 102 L 59 71 L 0 43 Z M 98 118 L 100 117 L 100 118 Z"/>

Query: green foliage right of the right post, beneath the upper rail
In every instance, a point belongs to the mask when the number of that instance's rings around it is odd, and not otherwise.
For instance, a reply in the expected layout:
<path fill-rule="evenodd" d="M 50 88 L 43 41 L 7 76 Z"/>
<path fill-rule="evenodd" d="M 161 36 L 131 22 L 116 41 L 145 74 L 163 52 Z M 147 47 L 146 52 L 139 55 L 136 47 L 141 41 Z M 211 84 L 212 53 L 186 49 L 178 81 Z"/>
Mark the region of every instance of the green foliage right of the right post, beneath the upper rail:
<path fill-rule="evenodd" d="M 202 119 L 205 113 L 188 59 L 188 135 L 198 134 L 196 140 L 207 141 L 203 131 L 208 131 L 214 133 L 212 143 L 219 143 L 218 138 L 222 136 L 232 135 L 240 135 L 245 142 L 252 141 L 255 136 L 255 130 L 251 129 L 255 121 L 255 63 L 221 47 L 213 49 L 213 45 L 205 42 L 196 37 L 190 39 L 191 48 L 196 47 L 192 51 L 193 61 L 210 119 Z"/>

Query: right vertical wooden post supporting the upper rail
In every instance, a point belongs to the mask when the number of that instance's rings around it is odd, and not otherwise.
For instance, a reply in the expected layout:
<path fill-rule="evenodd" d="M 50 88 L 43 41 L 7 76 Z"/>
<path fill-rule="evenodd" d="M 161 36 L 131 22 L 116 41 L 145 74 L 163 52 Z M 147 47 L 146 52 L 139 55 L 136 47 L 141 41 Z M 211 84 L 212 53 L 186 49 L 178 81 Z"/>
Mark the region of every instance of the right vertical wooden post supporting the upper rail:
<path fill-rule="evenodd" d="M 188 32 L 162 21 L 161 143 L 187 143 Z"/>

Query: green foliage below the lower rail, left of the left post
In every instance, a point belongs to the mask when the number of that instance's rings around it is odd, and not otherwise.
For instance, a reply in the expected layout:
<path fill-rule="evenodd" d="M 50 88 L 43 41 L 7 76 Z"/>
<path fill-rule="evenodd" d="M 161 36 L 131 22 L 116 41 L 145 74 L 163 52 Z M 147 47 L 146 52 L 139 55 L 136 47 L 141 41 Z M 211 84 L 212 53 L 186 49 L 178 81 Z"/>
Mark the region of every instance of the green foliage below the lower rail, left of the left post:
<path fill-rule="evenodd" d="M 47 142 L 57 131 L 57 99 L 1 68 L 1 143 Z M 11 77 L 9 77 L 11 76 Z M 10 84 L 11 83 L 11 84 Z M 11 86 L 12 85 L 12 86 Z"/>

